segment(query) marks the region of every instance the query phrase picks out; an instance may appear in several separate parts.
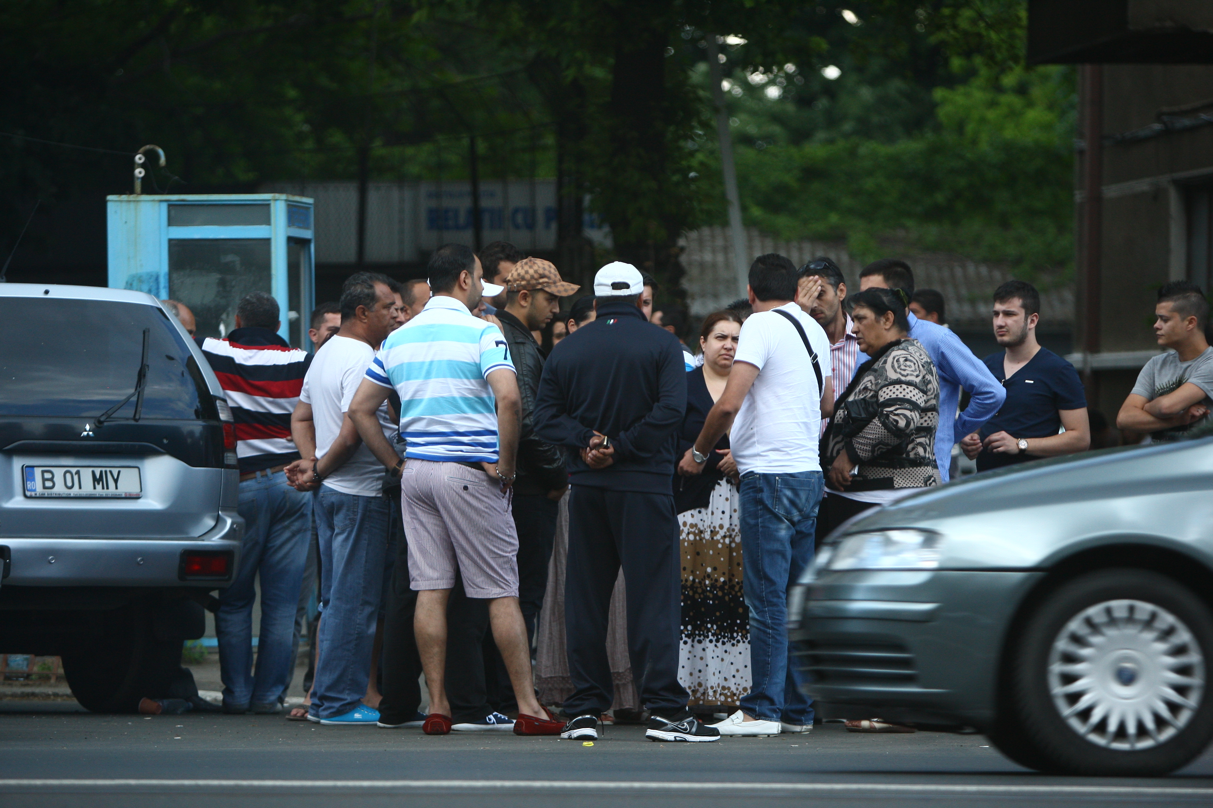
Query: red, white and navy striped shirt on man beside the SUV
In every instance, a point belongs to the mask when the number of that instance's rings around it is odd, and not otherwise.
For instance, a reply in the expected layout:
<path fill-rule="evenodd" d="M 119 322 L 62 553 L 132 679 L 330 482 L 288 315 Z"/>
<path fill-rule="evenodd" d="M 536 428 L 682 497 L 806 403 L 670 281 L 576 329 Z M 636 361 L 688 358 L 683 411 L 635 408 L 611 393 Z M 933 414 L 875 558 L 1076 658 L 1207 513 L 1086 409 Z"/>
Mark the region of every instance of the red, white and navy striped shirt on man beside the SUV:
<path fill-rule="evenodd" d="M 201 348 L 235 418 L 240 474 L 297 460 L 291 413 L 312 355 L 269 328 L 237 328 L 226 339 L 207 338 Z"/>

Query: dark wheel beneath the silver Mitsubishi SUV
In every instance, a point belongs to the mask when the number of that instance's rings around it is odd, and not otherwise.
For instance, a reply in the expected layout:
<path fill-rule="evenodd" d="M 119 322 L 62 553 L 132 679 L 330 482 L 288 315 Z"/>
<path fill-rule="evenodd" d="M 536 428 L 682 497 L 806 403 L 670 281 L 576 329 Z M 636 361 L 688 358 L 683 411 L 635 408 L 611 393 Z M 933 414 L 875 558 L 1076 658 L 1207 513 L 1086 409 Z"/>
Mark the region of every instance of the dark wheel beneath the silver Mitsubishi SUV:
<path fill-rule="evenodd" d="M 135 712 L 164 693 L 181 663 L 181 641 L 158 641 L 142 603 L 104 615 L 97 642 L 63 654 L 72 695 L 92 712 Z"/>

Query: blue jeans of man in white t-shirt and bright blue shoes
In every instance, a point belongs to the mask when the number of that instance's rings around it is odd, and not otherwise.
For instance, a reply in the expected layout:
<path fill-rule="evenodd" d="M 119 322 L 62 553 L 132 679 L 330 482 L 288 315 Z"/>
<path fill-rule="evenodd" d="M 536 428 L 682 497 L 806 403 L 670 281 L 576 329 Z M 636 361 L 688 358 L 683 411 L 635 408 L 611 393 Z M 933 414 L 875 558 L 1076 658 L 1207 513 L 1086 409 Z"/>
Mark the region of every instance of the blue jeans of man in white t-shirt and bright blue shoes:
<path fill-rule="evenodd" d="M 371 676 L 387 563 L 388 500 L 320 486 L 315 527 L 320 538 L 320 660 L 311 712 L 335 718 L 361 704 Z"/>

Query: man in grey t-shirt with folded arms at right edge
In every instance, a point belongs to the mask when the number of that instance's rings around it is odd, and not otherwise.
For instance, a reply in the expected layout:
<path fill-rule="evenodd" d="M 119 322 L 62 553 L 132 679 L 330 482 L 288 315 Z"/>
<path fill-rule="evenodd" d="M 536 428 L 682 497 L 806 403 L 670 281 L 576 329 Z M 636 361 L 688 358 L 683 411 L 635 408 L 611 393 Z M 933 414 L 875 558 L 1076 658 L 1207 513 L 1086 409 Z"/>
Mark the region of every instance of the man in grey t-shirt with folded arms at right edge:
<path fill-rule="evenodd" d="M 1205 339 L 1208 311 L 1208 300 L 1195 283 L 1174 281 L 1158 290 L 1154 332 L 1169 350 L 1141 368 L 1116 416 L 1120 429 L 1173 441 L 1213 422 L 1213 348 Z"/>

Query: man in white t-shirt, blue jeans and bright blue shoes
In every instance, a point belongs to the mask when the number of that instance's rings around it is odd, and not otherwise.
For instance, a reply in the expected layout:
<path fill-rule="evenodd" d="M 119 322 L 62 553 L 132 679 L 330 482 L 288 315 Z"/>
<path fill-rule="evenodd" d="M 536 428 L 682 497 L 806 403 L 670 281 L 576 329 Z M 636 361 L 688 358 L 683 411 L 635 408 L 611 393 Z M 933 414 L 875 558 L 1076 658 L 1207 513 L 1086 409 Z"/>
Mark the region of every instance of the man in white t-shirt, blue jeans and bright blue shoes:
<path fill-rule="evenodd" d="M 308 716 L 323 724 L 374 727 L 378 711 L 361 699 L 370 681 L 388 563 L 388 500 L 383 466 L 363 445 L 346 411 L 375 351 L 395 325 L 392 280 L 357 273 L 342 287 L 340 305 L 341 329 L 312 360 L 291 417 L 295 443 L 308 458 L 294 464 L 291 476 L 304 487 L 319 483 L 314 514 L 323 619 L 317 644 L 324 653 Z M 397 431 L 386 405 L 378 419 L 385 435 Z"/>

